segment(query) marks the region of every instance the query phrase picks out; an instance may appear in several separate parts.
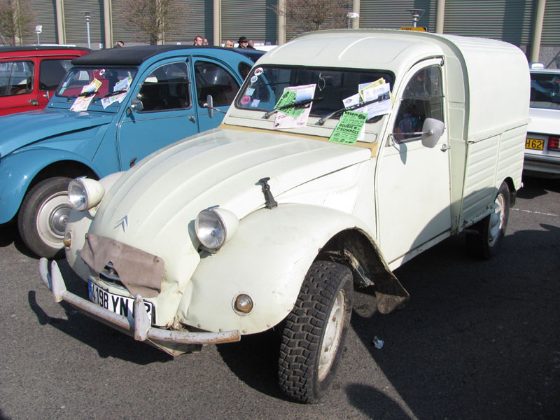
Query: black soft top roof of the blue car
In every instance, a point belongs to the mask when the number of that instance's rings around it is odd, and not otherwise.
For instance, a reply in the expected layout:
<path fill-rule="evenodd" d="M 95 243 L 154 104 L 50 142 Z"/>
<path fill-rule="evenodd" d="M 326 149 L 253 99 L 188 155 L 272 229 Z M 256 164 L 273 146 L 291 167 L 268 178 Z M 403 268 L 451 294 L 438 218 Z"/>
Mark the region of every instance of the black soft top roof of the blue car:
<path fill-rule="evenodd" d="M 98 50 L 90 54 L 82 55 L 72 60 L 72 64 L 80 66 L 92 65 L 121 65 L 139 66 L 146 59 L 159 54 L 160 52 L 172 50 L 229 50 L 245 55 L 253 62 L 263 55 L 264 51 L 246 50 L 244 48 L 224 48 L 224 47 L 200 47 L 195 45 L 140 45 L 137 47 L 110 48 Z"/>

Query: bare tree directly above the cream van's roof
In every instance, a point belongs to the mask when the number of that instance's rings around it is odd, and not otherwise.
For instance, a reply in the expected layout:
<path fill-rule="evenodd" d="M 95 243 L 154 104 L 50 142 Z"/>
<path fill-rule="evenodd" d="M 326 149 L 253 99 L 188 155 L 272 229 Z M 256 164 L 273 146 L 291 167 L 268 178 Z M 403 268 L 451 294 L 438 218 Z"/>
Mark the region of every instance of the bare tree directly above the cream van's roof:
<path fill-rule="evenodd" d="M 346 27 L 350 3 L 348 0 L 286 0 L 286 10 L 280 10 L 278 6 L 272 6 L 272 10 L 284 15 L 286 25 L 300 34 Z"/>

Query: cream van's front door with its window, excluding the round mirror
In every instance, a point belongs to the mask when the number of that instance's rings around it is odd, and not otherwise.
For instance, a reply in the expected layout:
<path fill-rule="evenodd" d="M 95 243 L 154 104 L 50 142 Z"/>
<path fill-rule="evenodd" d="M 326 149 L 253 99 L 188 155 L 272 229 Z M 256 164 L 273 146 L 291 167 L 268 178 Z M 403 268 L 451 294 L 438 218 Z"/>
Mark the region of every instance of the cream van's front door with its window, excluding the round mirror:
<path fill-rule="evenodd" d="M 391 268 L 451 229 L 447 129 L 433 148 L 417 134 L 426 118 L 447 122 L 441 59 L 417 64 L 405 80 L 395 92 L 400 101 L 388 120 L 392 134 L 379 150 L 375 181 L 379 245 Z"/>

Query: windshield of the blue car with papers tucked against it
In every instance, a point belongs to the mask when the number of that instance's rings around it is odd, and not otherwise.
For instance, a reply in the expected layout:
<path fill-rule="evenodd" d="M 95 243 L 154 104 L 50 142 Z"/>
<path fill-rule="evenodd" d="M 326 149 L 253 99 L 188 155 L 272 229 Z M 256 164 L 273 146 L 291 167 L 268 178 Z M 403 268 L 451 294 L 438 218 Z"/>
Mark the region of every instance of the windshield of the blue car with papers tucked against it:
<path fill-rule="evenodd" d="M 69 100 L 92 97 L 92 102 L 102 99 L 120 102 L 126 96 L 136 73 L 136 68 L 73 67 L 56 94 Z"/>

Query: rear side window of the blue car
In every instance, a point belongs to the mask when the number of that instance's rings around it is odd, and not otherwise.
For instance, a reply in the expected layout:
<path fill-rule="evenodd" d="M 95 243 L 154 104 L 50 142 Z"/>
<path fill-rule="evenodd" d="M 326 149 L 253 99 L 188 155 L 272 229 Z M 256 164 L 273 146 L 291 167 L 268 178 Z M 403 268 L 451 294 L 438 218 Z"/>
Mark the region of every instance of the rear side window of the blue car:
<path fill-rule="evenodd" d="M 214 106 L 228 106 L 239 90 L 230 72 L 211 62 L 195 62 L 195 79 L 200 106 L 204 106 L 209 94 L 212 95 Z"/>

